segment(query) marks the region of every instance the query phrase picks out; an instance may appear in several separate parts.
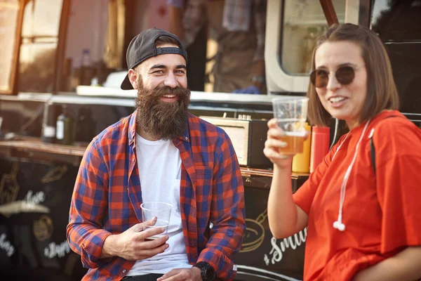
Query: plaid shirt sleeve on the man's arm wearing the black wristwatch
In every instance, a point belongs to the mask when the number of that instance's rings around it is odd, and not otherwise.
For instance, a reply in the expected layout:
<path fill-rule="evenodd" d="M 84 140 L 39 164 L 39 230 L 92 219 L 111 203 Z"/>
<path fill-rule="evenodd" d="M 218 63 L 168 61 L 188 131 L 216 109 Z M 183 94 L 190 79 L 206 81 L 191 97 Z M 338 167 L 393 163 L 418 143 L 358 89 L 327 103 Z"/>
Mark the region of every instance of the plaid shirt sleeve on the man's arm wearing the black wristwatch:
<path fill-rule="evenodd" d="M 215 268 L 220 280 L 235 276 L 233 255 L 241 249 L 246 229 L 243 178 L 234 147 L 226 133 L 216 145 L 218 159 L 213 169 L 214 191 L 210 210 L 210 238 L 198 261 Z"/>

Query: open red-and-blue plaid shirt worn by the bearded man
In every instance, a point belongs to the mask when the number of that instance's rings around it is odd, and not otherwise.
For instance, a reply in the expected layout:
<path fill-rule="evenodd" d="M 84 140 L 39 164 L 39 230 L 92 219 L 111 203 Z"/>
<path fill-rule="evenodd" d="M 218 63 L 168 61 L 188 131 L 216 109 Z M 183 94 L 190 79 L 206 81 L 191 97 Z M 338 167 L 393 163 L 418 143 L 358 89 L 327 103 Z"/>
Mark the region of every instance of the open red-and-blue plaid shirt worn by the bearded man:
<path fill-rule="evenodd" d="M 99 257 L 107 236 L 142 221 L 136 119 L 137 111 L 102 131 L 81 161 L 67 240 L 88 268 L 83 280 L 119 280 L 135 263 Z M 185 135 L 173 143 L 182 160 L 180 207 L 189 263 L 206 261 L 218 278 L 232 280 L 232 257 L 246 228 L 243 179 L 232 143 L 225 131 L 193 115 Z"/>

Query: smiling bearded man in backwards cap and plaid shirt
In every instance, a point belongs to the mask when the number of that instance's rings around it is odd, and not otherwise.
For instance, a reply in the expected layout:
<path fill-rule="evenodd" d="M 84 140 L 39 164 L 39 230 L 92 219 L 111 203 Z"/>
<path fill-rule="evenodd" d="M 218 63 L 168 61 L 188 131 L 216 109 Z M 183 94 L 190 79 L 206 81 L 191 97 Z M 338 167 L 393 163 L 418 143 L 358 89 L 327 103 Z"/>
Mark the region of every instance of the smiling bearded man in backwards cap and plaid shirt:
<path fill-rule="evenodd" d="M 241 249 L 244 190 L 225 131 L 191 115 L 187 53 L 152 28 L 128 46 L 121 89 L 136 110 L 86 149 L 67 226 L 83 280 L 232 280 Z M 142 202 L 171 204 L 168 232 L 145 228 Z"/>

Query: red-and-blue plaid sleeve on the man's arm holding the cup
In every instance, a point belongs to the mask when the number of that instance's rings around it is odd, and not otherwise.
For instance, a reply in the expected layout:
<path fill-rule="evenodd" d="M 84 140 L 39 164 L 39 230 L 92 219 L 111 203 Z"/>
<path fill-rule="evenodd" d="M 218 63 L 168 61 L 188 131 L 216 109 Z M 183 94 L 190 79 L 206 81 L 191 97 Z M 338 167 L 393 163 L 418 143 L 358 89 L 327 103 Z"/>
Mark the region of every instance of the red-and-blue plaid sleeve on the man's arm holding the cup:
<path fill-rule="evenodd" d="M 76 254 L 81 255 L 85 268 L 97 268 L 105 239 L 111 235 L 102 229 L 107 208 L 107 167 L 102 155 L 91 143 L 81 161 L 67 225 L 67 241 Z"/>

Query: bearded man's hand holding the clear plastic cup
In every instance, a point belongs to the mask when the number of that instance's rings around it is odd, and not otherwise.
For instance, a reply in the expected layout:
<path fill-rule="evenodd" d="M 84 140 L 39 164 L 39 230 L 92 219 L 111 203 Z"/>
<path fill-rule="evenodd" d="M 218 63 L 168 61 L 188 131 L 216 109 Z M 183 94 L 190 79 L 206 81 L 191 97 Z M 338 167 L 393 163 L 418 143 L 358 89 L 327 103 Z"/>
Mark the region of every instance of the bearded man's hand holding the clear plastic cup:
<path fill-rule="evenodd" d="M 156 240 L 146 239 L 159 235 L 164 229 L 148 228 L 143 230 L 144 224 L 153 226 L 155 222 L 145 221 L 145 223 L 138 223 L 119 235 L 110 235 L 105 239 L 101 258 L 120 256 L 128 261 L 138 261 L 162 253 L 168 248 L 168 244 L 166 244 L 168 235 L 163 235 L 163 237 Z"/>

